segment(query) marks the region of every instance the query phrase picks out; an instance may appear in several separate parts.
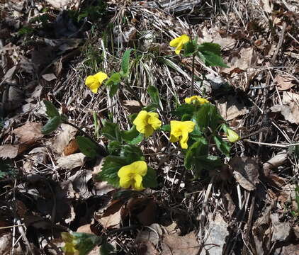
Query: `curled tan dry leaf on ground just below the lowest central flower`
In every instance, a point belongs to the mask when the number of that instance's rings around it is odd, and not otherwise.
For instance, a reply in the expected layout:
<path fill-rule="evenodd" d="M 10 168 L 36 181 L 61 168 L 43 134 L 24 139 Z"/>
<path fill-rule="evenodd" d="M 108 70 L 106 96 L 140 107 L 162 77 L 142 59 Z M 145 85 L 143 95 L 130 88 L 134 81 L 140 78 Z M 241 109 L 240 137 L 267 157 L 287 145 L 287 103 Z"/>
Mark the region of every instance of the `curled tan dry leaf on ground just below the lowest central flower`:
<path fill-rule="evenodd" d="M 118 227 L 121 221 L 123 202 L 113 200 L 103 213 L 96 212 L 94 218 L 105 228 Z"/>

